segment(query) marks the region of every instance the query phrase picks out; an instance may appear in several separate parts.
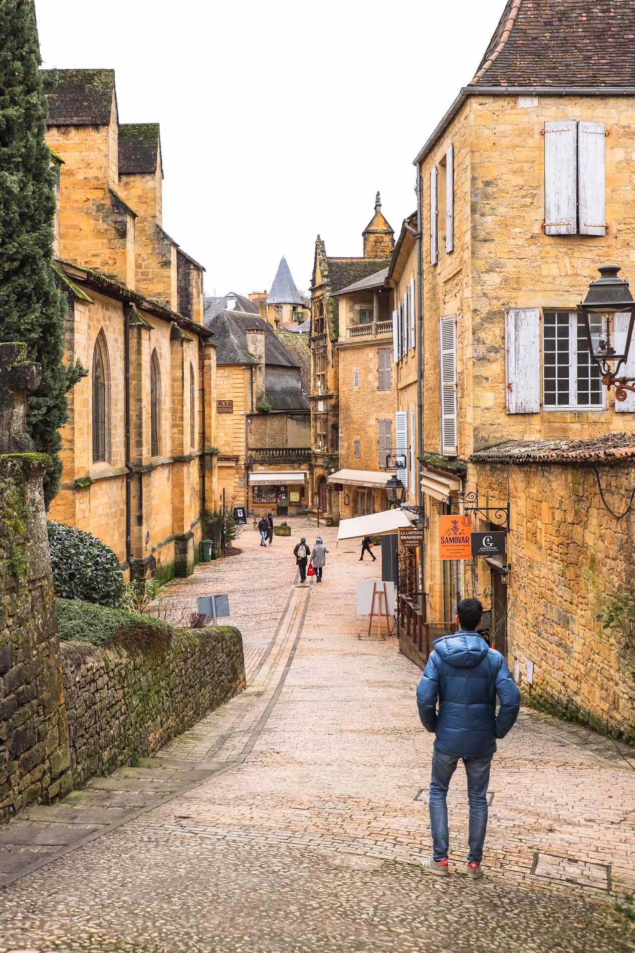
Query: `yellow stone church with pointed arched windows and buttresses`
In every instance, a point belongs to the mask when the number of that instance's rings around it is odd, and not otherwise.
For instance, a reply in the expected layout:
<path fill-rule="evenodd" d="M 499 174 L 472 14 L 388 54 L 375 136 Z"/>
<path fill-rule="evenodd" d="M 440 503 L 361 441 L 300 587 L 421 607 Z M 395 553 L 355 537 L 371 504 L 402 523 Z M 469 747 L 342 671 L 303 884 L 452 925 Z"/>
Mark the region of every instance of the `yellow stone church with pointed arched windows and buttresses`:
<path fill-rule="evenodd" d="M 44 88 L 65 357 L 89 372 L 49 517 L 101 538 L 126 578 L 187 575 L 216 505 L 203 268 L 163 230 L 159 127 L 119 124 L 113 71 L 45 71 Z"/>

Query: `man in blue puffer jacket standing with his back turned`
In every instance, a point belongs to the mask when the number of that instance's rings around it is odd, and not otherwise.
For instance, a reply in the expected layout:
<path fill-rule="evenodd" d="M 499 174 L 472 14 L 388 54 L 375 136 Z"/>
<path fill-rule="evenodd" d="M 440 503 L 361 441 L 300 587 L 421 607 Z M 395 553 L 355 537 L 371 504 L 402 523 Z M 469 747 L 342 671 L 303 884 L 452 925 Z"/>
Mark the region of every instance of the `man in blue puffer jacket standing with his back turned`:
<path fill-rule="evenodd" d="M 447 874 L 446 794 L 457 762 L 463 759 L 469 801 L 467 874 L 474 879 L 483 876 L 487 785 L 496 739 L 505 738 L 512 728 L 521 700 L 506 660 L 476 631 L 482 618 L 483 606 L 478 599 L 459 602 L 460 631 L 436 639 L 417 687 L 421 722 L 427 731 L 436 734 L 428 802 L 432 857 L 422 865 L 429 873 Z M 496 696 L 501 702 L 498 716 Z"/>

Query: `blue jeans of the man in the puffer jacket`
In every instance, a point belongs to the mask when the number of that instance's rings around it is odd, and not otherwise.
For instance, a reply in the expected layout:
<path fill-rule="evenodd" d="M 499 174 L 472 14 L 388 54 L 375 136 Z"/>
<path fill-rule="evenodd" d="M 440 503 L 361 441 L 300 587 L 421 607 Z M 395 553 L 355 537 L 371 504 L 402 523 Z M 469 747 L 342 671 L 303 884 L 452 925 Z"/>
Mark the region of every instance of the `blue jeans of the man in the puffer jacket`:
<path fill-rule="evenodd" d="M 483 860 L 483 844 L 487 829 L 487 786 L 492 756 L 465 760 L 467 775 L 467 801 L 469 801 L 469 853 L 468 861 L 480 863 Z M 447 857 L 449 835 L 447 833 L 446 794 L 449 782 L 456 770 L 456 755 L 447 755 L 445 751 L 435 749 L 432 756 L 432 777 L 430 779 L 429 809 L 430 829 L 432 831 L 432 857 L 443 861 Z"/>

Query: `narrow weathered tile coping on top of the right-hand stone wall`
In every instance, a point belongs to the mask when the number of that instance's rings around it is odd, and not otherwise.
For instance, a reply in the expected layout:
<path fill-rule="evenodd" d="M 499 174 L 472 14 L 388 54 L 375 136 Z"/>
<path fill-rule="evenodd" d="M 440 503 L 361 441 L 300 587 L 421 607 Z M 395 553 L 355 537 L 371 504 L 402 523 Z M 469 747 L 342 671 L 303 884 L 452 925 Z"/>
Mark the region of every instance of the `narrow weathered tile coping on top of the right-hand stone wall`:
<path fill-rule="evenodd" d="M 588 440 L 507 440 L 470 456 L 472 463 L 617 463 L 635 458 L 635 434 Z"/>

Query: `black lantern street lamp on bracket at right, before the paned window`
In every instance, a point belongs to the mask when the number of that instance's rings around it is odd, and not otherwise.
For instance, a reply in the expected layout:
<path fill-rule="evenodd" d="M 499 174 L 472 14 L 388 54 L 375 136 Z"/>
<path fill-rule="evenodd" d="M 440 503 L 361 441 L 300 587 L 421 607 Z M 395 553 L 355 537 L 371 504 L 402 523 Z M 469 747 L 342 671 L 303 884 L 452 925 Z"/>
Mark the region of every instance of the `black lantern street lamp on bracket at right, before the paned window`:
<path fill-rule="evenodd" d="M 615 399 L 625 400 L 626 391 L 635 393 L 635 377 L 618 377 L 628 356 L 630 339 L 635 323 L 635 301 L 630 294 L 628 282 L 618 278 L 618 265 L 603 265 L 598 269 L 601 277 L 591 281 L 585 300 L 578 307 L 585 318 L 586 342 L 591 360 L 602 371 L 605 387 L 615 387 Z M 615 315 L 628 314 L 628 328 L 624 341 L 615 333 Z M 611 335 L 611 321 L 613 322 Z M 611 366 L 612 365 L 612 366 Z"/>

